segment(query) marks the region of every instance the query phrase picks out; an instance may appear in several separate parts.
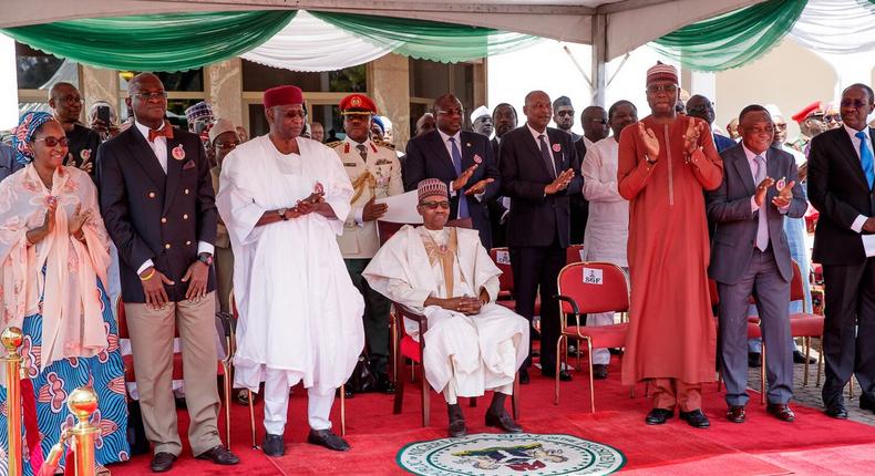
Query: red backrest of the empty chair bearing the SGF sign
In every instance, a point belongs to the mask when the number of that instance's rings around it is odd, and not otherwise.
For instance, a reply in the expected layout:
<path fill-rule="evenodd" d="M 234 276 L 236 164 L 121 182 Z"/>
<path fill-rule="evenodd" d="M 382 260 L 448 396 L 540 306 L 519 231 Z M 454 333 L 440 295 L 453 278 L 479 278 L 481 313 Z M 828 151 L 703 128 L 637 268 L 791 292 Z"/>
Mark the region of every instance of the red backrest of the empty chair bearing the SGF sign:
<path fill-rule="evenodd" d="M 559 294 L 572 298 L 580 313 L 626 312 L 629 310 L 629 281 L 622 268 L 610 262 L 566 265 L 557 279 Z M 562 312 L 574 309 L 559 301 Z"/>

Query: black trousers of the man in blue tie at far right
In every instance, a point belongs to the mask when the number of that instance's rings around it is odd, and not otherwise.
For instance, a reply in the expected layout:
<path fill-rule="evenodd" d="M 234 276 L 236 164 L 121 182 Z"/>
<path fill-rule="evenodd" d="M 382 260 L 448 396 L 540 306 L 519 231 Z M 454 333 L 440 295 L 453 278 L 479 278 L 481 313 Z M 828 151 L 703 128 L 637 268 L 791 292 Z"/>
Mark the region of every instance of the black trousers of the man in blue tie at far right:
<path fill-rule="evenodd" d="M 843 403 L 842 390 L 854 374 L 862 393 L 875 401 L 875 258 L 859 265 L 824 265 L 823 279 L 823 403 Z"/>

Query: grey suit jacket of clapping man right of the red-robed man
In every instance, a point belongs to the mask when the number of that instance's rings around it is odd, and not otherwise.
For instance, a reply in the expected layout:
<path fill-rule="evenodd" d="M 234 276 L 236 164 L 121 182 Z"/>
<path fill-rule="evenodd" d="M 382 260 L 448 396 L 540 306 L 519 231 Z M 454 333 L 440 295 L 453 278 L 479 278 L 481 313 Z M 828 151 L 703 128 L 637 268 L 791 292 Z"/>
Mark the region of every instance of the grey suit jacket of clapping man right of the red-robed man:
<path fill-rule="evenodd" d="M 708 217 L 717 224 L 709 276 L 727 284 L 735 284 L 744 275 L 753 256 L 760 214 L 768 207 L 769 238 L 778 262 L 778 269 L 785 281 L 793 279 L 790 265 L 790 247 L 784 235 L 784 215 L 772 204 L 778 195 L 775 187 L 769 188 L 763 206 L 751 213 L 751 197 L 756 192 L 753 174 L 741 144 L 723 151 L 723 182 L 716 190 L 707 194 Z M 769 147 L 765 153 L 766 174 L 780 180 L 785 177 L 790 183 L 797 176 L 793 156 L 784 151 Z M 793 199 L 786 216 L 801 218 L 809 205 L 800 184 L 793 185 Z"/>

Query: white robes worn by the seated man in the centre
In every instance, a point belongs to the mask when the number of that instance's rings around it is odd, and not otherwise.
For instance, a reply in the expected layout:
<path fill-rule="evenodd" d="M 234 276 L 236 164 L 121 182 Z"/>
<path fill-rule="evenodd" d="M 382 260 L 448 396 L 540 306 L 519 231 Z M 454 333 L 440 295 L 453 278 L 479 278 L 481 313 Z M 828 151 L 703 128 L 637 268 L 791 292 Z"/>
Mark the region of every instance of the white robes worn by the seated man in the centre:
<path fill-rule="evenodd" d="M 440 260 L 431 265 L 424 242 L 446 246 L 453 228 L 440 232 L 405 226 L 380 248 L 362 276 L 372 289 L 394 302 L 424 313 L 425 377 L 437 392 L 453 383 L 459 396 L 480 396 L 485 390 L 513 383 L 528 353 L 528 321 L 496 306 L 501 271 L 490 259 L 476 230 L 455 228 L 456 253 L 452 270 L 452 294 Z M 477 297 L 485 289 L 490 303 L 475 315 L 437 306 L 423 309 L 425 299 Z M 414 322 L 405 331 L 419 339 Z"/>

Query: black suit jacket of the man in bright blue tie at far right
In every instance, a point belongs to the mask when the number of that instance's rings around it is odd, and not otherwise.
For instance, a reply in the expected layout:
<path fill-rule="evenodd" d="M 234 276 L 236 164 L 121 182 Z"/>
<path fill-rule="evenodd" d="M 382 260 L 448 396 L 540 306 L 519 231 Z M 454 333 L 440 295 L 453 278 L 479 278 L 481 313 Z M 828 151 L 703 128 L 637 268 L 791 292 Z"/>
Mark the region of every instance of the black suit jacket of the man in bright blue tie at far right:
<path fill-rule="evenodd" d="M 869 138 L 875 139 L 875 130 L 867 130 Z M 866 184 L 859 157 L 844 127 L 811 139 L 809 199 L 821 213 L 814 231 L 814 261 L 863 263 L 863 240 L 851 225 L 859 215 L 875 216 L 875 195 Z"/>

